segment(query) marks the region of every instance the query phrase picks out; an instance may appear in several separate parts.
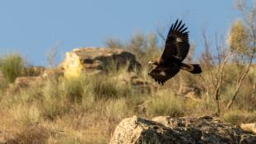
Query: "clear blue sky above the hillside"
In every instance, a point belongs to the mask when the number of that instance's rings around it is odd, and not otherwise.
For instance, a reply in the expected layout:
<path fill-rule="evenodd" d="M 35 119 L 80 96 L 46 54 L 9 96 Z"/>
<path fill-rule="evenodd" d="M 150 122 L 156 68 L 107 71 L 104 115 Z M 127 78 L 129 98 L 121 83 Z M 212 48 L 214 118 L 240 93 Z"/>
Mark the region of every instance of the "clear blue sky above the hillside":
<path fill-rule="evenodd" d="M 233 0 L 8 0 L 0 2 L 0 53 L 21 53 L 46 65 L 46 53 L 58 45 L 58 60 L 77 47 L 104 46 L 105 39 L 147 35 L 175 19 L 189 27 L 190 41 L 202 51 L 202 27 L 212 37 L 226 35 L 239 16 Z"/>

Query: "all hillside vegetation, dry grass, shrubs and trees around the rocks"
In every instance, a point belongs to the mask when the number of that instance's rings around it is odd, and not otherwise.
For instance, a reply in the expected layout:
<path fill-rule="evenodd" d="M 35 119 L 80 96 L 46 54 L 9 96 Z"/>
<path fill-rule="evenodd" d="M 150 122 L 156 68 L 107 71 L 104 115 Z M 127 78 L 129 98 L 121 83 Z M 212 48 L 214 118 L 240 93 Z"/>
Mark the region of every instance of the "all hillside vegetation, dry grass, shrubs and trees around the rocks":
<path fill-rule="evenodd" d="M 147 76 L 152 68 L 147 62 L 159 58 L 163 39 L 140 33 L 126 42 L 107 39 L 109 49 L 124 49 L 136 55 L 142 64 L 137 76 L 156 86 L 150 92 L 122 85 L 113 77 L 126 71 L 114 67 L 107 67 L 111 71 L 100 76 L 83 74 L 65 79 L 53 75 L 16 90 L 12 88 L 16 77 L 33 76 L 33 71 L 18 53 L 2 55 L 0 142 L 2 138 L 7 143 L 107 143 L 116 125 L 133 115 L 217 115 L 237 125 L 256 122 L 256 13 L 254 7 L 243 9 L 241 3 L 237 7 L 244 17 L 230 25 L 226 39 L 217 35 L 216 44 L 212 44 L 214 41 L 203 32 L 204 49 L 196 56 L 193 49 L 197 48 L 191 44 L 186 60 L 200 63 L 202 74 L 179 72 L 165 86 Z M 181 92 L 183 86 L 197 91 L 189 97 Z"/>

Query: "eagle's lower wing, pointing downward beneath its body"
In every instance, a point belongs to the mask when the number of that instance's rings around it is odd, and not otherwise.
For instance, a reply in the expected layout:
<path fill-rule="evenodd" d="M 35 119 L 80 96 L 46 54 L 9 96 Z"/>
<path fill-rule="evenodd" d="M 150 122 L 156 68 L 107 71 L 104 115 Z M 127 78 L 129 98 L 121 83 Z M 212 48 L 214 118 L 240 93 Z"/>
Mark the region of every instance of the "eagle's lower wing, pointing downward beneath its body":
<path fill-rule="evenodd" d="M 174 77 L 179 72 L 179 67 L 154 67 L 148 74 L 159 84 L 164 85 L 165 81 Z"/>

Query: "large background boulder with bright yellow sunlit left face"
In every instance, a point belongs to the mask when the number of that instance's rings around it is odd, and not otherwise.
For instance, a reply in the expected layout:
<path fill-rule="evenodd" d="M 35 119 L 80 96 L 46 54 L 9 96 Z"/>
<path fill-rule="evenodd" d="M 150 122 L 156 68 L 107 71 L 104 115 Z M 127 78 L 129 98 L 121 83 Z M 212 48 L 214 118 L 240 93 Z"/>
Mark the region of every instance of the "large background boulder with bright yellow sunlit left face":
<path fill-rule="evenodd" d="M 78 48 L 66 53 L 60 64 L 65 77 L 79 77 L 82 72 L 95 74 L 106 72 L 109 68 L 127 66 L 128 72 L 141 67 L 135 55 L 123 49 Z"/>

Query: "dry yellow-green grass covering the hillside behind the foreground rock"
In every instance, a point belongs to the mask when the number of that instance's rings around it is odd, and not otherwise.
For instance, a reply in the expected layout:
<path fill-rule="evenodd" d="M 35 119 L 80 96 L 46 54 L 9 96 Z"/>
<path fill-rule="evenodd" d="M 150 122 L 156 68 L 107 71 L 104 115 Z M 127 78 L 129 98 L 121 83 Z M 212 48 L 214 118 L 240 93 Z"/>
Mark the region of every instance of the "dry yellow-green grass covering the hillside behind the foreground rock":
<path fill-rule="evenodd" d="M 145 71 L 142 71 L 141 77 L 150 80 Z M 177 95 L 179 85 L 172 81 L 180 81 L 179 77 L 148 94 L 134 91 L 133 87 L 112 78 L 120 72 L 72 80 L 51 78 L 45 80 L 44 85 L 39 81 L 38 85 L 16 92 L 7 91 L 2 86 L 2 137 L 8 143 L 108 143 L 120 120 L 133 115 L 153 118 L 215 112 L 212 97 L 205 96 L 203 91 L 202 99 L 198 100 Z M 138 105 L 145 110 L 138 110 Z M 247 112 L 244 105 L 240 103 L 234 108 L 240 107 L 244 111 L 231 109 L 224 112 L 221 118 L 235 124 L 255 120 L 255 112 Z"/>

